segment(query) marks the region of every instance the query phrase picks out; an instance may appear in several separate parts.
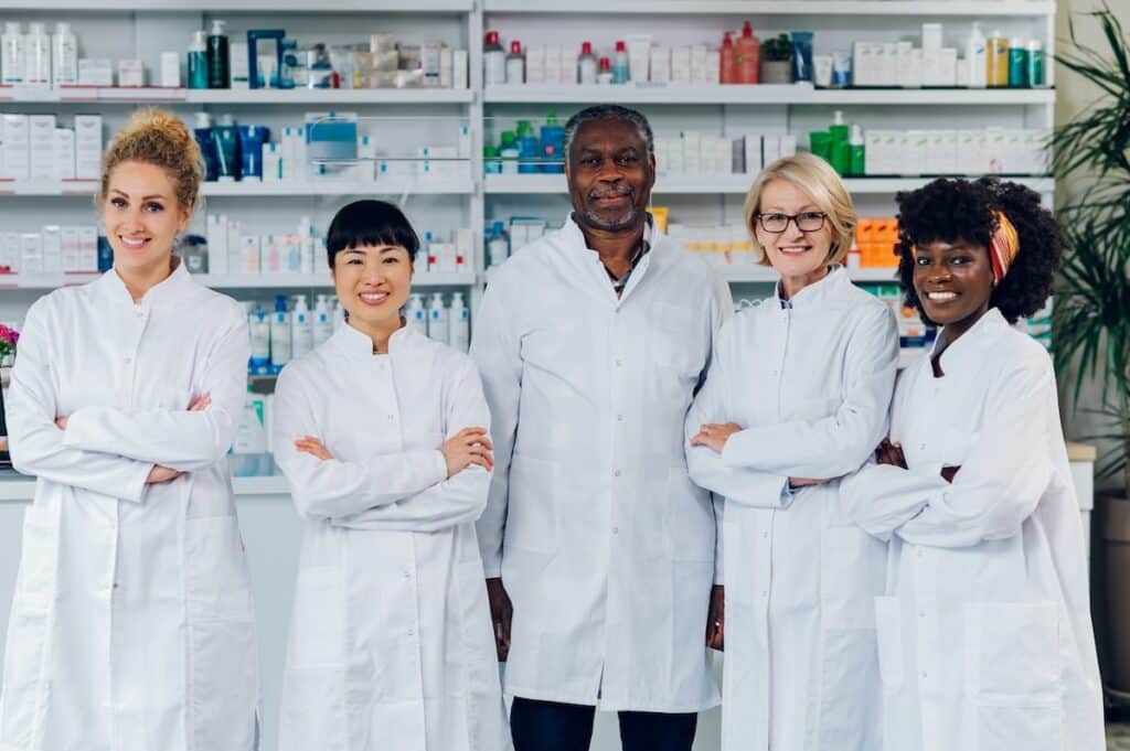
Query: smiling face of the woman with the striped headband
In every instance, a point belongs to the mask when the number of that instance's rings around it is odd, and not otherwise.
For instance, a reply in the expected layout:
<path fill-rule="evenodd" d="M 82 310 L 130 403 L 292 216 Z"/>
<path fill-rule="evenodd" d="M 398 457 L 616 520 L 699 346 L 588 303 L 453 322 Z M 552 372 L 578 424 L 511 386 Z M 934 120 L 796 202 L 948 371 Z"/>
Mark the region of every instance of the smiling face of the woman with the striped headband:
<path fill-rule="evenodd" d="M 983 245 L 955 239 L 914 246 L 914 291 L 922 311 L 953 341 L 989 309 L 993 277 Z"/>

